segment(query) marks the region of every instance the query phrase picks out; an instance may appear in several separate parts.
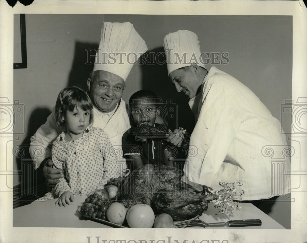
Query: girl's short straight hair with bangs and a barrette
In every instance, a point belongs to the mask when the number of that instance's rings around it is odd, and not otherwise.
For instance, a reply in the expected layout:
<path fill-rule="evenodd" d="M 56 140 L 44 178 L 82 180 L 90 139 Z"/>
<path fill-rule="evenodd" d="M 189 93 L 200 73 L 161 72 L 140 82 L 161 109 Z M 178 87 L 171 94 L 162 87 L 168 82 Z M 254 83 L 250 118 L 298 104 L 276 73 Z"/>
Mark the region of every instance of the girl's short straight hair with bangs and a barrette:
<path fill-rule="evenodd" d="M 65 120 L 62 120 L 62 117 L 65 118 L 65 112 L 67 110 L 73 111 L 75 107 L 78 107 L 81 110 L 90 111 L 90 122 L 93 122 L 93 104 L 90 97 L 79 87 L 67 87 L 64 88 L 56 99 L 56 124 L 59 126 L 64 126 L 66 124 Z"/>

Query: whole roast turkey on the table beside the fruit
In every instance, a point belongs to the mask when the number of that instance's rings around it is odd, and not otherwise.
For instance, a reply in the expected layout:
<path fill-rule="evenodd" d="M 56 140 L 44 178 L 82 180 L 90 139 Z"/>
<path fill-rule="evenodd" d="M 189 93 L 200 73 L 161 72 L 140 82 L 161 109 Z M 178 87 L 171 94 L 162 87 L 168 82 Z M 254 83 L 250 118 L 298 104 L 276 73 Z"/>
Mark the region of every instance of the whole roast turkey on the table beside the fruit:
<path fill-rule="evenodd" d="M 210 191 L 210 187 L 189 181 L 177 168 L 146 164 L 125 178 L 118 200 L 127 208 L 145 203 L 155 214 L 167 213 L 174 221 L 183 221 L 202 214 L 210 201 L 218 199 Z"/>

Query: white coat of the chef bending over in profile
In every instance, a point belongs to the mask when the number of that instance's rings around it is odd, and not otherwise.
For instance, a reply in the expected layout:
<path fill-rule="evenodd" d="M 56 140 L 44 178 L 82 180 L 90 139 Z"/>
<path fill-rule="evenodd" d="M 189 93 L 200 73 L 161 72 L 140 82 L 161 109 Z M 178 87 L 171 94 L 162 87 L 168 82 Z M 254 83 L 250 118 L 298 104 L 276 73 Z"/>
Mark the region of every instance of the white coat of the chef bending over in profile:
<path fill-rule="evenodd" d="M 262 148 L 274 147 L 282 153 L 287 147 L 280 122 L 259 98 L 231 75 L 212 67 L 202 84 L 196 113 L 196 125 L 190 138 L 190 156 L 185 163 L 185 174 L 196 183 L 214 190 L 219 182 L 240 182 L 245 191 L 242 200 L 258 200 L 288 193 L 289 176 L 282 174 L 279 183 L 272 171 L 271 157 Z M 277 146 L 278 145 L 278 146 Z M 274 161 L 290 171 L 290 159 Z M 278 184 L 279 183 L 279 184 Z M 274 187 L 274 188 L 273 188 Z M 276 187 L 277 190 L 276 190 Z M 272 193 L 273 191 L 273 193 Z M 285 193 L 283 193 L 285 192 Z"/>

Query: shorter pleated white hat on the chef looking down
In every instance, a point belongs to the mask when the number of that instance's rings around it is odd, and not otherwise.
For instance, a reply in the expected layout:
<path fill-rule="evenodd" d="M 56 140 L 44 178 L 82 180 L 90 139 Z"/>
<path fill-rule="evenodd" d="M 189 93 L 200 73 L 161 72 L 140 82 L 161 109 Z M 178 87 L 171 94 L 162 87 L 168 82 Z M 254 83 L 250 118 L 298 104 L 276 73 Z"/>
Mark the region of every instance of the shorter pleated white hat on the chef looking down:
<path fill-rule="evenodd" d="M 163 47 L 169 74 L 192 63 L 205 67 L 201 60 L 198 37 L 189 30 L 178 30 L 167 34 L 163 39 Z"/>

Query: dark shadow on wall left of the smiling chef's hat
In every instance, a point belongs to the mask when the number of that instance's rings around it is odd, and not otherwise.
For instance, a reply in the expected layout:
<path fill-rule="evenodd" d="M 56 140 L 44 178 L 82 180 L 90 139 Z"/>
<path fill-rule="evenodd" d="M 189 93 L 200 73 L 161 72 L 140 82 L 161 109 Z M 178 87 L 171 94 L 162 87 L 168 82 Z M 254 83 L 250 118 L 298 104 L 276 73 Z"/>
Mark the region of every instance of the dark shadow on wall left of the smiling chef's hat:
<path fill-rule="evenodd" d="M 87 78 L 93 71 L 96 50 L 99 44 L 75 43 L 72 68 L 69 73 L 67 87 L 79 86 L 87 91 Z"/>

